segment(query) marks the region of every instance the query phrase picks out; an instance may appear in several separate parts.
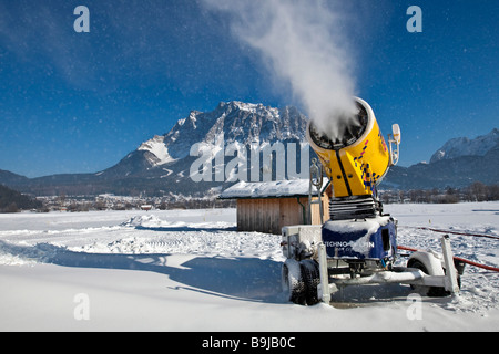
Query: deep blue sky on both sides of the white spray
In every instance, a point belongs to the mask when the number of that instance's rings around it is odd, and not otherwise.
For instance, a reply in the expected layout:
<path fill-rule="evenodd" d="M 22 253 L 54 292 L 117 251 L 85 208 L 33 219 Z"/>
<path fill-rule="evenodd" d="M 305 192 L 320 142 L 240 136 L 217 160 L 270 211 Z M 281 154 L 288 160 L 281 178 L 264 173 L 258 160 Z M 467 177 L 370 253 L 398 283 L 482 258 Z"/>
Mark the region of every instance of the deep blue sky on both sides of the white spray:
<path fill-rule="evenodd" d="M 400 165 L 498 127 L 497 0 L 348 3 L 357 94 L 385 135 L 400 125 Z M 90 33 L 73 29 L 80 4 Z M 413 4 L 421 33 L 406 30 Z M 190 0 L 0 0 L 0 169 L 95 173 L 192 110 L 299 105 L 231 20 Z"/>

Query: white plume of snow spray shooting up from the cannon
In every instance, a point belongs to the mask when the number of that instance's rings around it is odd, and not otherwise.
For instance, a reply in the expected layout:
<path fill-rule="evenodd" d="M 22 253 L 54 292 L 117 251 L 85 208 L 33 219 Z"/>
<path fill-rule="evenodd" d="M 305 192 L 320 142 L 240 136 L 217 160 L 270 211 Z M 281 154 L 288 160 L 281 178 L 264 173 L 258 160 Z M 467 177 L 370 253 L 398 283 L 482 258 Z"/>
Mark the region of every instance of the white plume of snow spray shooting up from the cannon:
<path fill-rule="evenodd" d="M 342 140 L 359 125 L 340 1 L 204 2 L 231 15 L 233 33 L 262 54 L 281 85 L 291 86 L 317 129 Z"/>

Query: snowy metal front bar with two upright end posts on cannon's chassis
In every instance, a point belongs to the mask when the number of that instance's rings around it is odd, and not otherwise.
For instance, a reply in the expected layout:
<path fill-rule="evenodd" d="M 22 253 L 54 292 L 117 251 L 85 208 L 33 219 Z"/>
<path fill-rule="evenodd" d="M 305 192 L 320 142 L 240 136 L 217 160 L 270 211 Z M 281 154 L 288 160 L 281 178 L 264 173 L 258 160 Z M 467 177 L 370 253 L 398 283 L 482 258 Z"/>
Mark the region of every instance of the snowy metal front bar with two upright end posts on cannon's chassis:
<path fill-rule="evenodd" d="M 317 298 L 325 303 L 329 303 L 330 294 L 338 291 L 339 288 L 380 283 L 406 283 L 437 289 L 442 288 L 446 292 L 456 294 L 459 292 L 459 284 L 448 236 L 441 238 L 441 247 L 446 270 L 444 274 L 427 274 L 421 269 L 417 268 L 394 267 L 391 271 L 380 271 L 367 277 L 337 279 L 329 277 L 326 247 L 324 243 L 319 243 L 318 264 L 320 283 L 317 285 Z M 420 253 L 422 254 L 422 252 Z M 416 259 L 418 259 L 417 256 Z M 336 260 L 333 260 L 333 262 L 336 262 Z M 324 289 L 326 289 L 326 291 L 324 291 Z"/>

